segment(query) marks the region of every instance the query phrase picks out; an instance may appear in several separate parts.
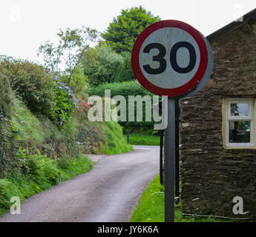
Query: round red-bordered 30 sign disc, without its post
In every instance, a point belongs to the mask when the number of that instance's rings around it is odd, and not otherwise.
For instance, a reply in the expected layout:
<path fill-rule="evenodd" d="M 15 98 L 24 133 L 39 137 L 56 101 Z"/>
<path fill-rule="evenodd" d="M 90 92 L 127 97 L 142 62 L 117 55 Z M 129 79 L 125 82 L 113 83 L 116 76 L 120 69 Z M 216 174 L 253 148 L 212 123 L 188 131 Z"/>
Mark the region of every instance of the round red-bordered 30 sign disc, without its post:
<path fill-rule="evenodd" d="M 176 97 L 191 92 L 202 79 L 206 83 L 212 58 L 207 39 L 194 27 L 165 20 L 143 30 L 135 41 L 131 64 L 146 90 L 158 96 Z"/>

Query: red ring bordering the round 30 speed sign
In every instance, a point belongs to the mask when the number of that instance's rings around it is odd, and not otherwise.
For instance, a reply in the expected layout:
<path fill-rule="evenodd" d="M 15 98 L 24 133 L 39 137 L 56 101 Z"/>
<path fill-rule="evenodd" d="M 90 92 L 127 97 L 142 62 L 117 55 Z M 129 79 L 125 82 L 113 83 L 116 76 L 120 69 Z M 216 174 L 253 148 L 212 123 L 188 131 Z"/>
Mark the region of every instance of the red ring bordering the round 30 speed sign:
<path fill-rule="evenodd" d="M 140 69 L 140 61 L 139 61 L 140 48 L 142 47 L 142 44 L 145 41 L 145 39 L 147 39 L 148 36 L 150 36 L 151 33 L 153 33 L 154 31 L 165 28 L 165 27 L 175 27 L 181 30 L 185 30 L 194 38 L 200 50 L 200 64 L 197 69 L 197 73 L 195 73 L 194 77 L 190 81 L 188 81 L 186 84 L 183 84 L 181 87 L 172 88 L 172 89 L 157 87 L 156 85 L 148 81 L 148 79 L 145 78 L 145 76 L 142 73 L 142 70 Z M 203 79 L 203 75 L 206 73 L 207 65 L 208 65 L 208 51 L 207 51 L 206 43 L 203 39 L 203 36 L 196 29 L 194 29 L 194 27 L 191 27 L 191 25 L 186 24 L 183 21 L 165 20 L 165 21 L 158 21 L 154 24 L 151 24 L 149 27 L 145 28 L 145 30 L 142 31 L 140 36 L 138 36 L 137 40 L 134 43 L 134 47 L 131 53 L 131 66 L 134 70 L 134 76 L 140 82 L 142 87 L 144 87 L 146 90 L 158 96 L 174 97 L 174 96 L 182 96 L 188 93 L 190 90 L 192 90 L 194 87 L 197 86 L 197 84 L 201 81 L 201 79 Z"/>

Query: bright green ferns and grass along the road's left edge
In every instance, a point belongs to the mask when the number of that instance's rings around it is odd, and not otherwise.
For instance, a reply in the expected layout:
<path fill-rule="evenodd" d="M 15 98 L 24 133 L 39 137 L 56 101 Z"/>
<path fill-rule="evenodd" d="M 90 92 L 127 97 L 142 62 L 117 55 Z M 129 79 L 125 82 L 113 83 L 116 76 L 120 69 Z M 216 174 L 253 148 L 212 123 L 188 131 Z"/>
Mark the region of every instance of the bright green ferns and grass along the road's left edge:
<path fill-rule="evenodd" d="M 0 216 L 10 210 L 13 204 L 10 198 L 13 196 L 18 196 L 21 201 L 24 201 L 53 185 L 86 173 L 93 167 L 93 162 L 82 155 L 73 159 L 60 160 L 36 155 L 27 156 L 25 161 L 26 171 L 15 170 L 7 178 L 0 179 Z"/>

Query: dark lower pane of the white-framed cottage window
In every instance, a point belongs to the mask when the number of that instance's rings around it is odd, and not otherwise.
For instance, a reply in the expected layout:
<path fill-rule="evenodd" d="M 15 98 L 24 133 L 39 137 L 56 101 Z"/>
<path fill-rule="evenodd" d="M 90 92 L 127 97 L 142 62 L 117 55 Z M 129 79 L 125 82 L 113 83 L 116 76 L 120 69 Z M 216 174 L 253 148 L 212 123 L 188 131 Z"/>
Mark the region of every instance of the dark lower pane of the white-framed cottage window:
<path fill-rule="evenodd" d="M 229 143 L 250 143 L 250 121 L 229 121 Z"/>

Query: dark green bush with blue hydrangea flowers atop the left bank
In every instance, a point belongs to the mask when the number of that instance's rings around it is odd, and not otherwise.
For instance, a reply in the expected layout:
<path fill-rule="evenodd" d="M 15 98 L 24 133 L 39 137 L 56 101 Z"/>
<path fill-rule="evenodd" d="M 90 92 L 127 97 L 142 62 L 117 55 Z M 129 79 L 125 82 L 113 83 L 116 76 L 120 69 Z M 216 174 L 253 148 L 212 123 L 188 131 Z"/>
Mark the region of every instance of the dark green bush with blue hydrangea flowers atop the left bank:
<path fill-rule="evenodd" d="M 76 110 L 70 87 L 42 66 L 29 61 L 2 59 L 0 70 L 10 79 L 13 90 L 37 116 L 47 116 L 62 126 Z"/>

